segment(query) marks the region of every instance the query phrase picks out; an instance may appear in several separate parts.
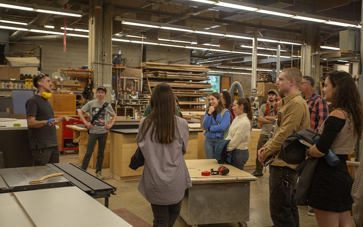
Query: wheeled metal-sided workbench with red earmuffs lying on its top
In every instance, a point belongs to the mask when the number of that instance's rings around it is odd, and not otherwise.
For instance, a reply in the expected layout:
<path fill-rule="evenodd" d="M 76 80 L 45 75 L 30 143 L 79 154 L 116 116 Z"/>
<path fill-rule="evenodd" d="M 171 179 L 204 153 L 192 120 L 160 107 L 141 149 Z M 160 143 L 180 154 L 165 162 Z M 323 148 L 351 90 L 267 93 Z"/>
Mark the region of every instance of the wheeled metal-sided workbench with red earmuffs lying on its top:
<path fill-rule="evenodd" d="M 193 187 L 183 198 L 180 216 L 188 225 L 238 222 L 246 227 L 249 221 L 250 182 L 257 178 L 231 165 L 227 175 L 202 176 L 201 171 L 218 169 L 215 159 L 185 160 Z"/>

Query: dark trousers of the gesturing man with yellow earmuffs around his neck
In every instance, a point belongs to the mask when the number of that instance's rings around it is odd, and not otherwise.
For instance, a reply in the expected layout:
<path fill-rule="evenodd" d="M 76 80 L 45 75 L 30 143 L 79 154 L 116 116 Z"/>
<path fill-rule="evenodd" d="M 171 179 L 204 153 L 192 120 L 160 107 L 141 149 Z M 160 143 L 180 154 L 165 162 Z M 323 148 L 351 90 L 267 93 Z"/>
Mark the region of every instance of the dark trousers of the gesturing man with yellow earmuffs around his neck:
<path fill-rule="evenodd" d="M 45 166 L 48 163 L 59 163 L 58 146 L 38 149 L 38 146 L 32 150 L 33 166 Z"/>

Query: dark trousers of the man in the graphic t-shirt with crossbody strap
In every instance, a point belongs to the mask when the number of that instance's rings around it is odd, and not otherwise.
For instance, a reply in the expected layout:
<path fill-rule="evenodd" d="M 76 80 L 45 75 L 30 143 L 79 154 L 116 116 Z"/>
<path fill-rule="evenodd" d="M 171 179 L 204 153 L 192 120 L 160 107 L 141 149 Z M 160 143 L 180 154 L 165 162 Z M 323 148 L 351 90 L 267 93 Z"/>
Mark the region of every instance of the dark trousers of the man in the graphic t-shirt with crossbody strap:
<path fill-rule="evenodd" d="M 108 133 L 102 133 L 102 134 L 90 133 L 88 135 L 87 150 L 85 153 L 85 157 L 83 157 L 82 166 L 81 166 L 83 170 L 87 170 L 88 164 L 90 162 L 94 150 L 94 146 L 96 146 L 96 142 L 98 140 L 96 173 L 101 172 L 103 157 L 105 157 L 104 153 L 106 147 L 107 134 Z"/>

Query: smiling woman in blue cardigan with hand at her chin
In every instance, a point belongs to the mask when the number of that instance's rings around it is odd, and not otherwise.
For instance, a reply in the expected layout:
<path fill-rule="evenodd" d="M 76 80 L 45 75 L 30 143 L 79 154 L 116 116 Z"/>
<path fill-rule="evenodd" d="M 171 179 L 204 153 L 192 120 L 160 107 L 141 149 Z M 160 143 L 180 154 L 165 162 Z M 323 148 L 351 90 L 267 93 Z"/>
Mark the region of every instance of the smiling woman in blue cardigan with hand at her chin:
<path fill-rule="evenodd" d="M 231 113 L 224 108 L 218 92 L 209 96 L 209 108 L 204 114 L 203 127 L 204 133 L 204 151 L 207 159 L 213 159 L 215 150 L 219 143 L 223 141 L 223 131 L 229 126 Z M 222 112 L 223 118 L 222 118 Z"/>

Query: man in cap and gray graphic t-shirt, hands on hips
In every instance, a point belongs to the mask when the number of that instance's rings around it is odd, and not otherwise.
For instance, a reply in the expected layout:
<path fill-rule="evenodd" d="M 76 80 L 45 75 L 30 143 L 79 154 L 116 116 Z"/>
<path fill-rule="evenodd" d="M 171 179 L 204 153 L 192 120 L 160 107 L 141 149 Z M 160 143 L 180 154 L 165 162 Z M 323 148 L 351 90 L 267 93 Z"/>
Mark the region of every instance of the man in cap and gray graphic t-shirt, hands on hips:
<path fill-rule="evenodd" d="M 91 121 L 95 117 L 95 115 L 97 115 L 99 110 L 102 108 L 102 105 L 105 103 L 103 98 L 105 98 L 106 92 L 107 90 L 105 87 L 103 86 L 98 87 L 97 99 L 87 102 L 87 104 L 84 105 L 82 109 L 78 111 L 79 118 L 83 121 L 83 123 L 85 123 L 87 129 L 90 130 L 90 134 L 88 136 L 87 150 L 85 153 L 85 157 L 83 158 L 81 168 L 83 170 L 87 170 L 87 166 L 90 162 L 94 146 L 96 145 L 96 142 L 98 140 L 96 176 L 102 180 L 105 179 L 101 174 L 101 170 L 102 170 L 103 157 L 105 153 L 107 135 L 109 129 L 113 126 L 113 124 L 116 121 L 116 114 L 110 104 L 107 105 L 104 110 L 102 110 L 101 114 L 98 115 L 98 117 L 93 121 L 92 124 L 86 121 L 83 114 L 89 113 Z M 110 116 L 112 116 L 111 123 L 107 123 L 108 122 L 107 113 L 109 113 Z"/>

